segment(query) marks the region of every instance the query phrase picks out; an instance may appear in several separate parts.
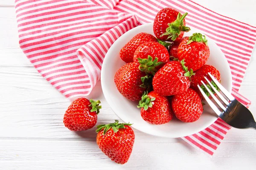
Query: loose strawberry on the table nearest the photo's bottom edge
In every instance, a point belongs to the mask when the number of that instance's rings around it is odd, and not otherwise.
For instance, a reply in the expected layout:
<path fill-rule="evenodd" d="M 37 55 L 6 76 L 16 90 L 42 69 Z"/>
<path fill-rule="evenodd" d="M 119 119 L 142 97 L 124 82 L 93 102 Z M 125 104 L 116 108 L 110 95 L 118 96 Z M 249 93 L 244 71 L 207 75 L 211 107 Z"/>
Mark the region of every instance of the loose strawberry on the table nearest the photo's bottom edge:
<path fill-rule="evenodd" d="M 115 123 L 97 126 L 96 142 L 99 148 L 112 161 L 125 164 L 130 158 L 134 144 L 134 131 L 129 123 Z"/>

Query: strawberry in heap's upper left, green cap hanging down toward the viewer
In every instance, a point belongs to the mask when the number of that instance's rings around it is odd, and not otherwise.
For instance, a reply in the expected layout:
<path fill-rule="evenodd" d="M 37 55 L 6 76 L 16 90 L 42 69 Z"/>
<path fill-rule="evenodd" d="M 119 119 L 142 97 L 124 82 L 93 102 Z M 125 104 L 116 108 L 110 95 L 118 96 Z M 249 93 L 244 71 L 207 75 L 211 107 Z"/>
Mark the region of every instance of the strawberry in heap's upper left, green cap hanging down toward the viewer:
<path fill-rule="evenodd" d="M 145 42 L 134 52 L 134 62 L 139 62 L 140 71 L 145 71 L 146 74 L 154 75 L 164 63 L 169 61 L 166 47 L 158 42 Z"/>

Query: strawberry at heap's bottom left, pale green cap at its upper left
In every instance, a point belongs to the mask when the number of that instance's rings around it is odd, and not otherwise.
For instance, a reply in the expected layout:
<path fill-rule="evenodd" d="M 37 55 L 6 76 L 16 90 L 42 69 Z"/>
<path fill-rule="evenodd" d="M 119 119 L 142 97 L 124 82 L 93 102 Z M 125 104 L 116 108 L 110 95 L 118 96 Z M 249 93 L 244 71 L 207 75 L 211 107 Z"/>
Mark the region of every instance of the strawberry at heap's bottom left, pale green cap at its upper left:
<path fill-rule="evenodd" d="M 151 124 L 162 125 L 172 120 L 173 112 L 166 96 L 161 96 L 155 91 L 144 91 L 137 108 L 141 108 L 142 118 Z"/>

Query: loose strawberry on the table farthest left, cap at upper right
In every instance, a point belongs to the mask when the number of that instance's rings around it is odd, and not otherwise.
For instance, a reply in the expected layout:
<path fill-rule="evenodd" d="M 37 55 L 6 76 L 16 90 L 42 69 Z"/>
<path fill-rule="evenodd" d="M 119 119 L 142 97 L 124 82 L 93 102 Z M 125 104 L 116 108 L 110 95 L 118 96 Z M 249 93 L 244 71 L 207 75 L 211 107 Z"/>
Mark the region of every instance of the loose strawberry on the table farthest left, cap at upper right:
<path fill-rule="evenodd" d="M 73 131 L 81 131 L 92 128 L 96 125 L 97 114 L 102 107 L 100 101 L 93 99 L 79 98 L 74 100 L 64 114 L 63 123 Z"/>

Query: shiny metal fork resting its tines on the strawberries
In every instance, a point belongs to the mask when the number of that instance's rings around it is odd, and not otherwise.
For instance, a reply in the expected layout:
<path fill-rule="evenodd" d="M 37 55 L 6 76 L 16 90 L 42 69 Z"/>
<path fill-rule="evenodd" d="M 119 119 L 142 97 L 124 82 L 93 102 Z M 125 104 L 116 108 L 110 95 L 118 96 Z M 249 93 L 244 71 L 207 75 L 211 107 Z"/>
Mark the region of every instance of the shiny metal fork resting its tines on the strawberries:
<path fill-rule="evenodd" d="M 244 107 L 239 101 L 237 101 L 210 73 L 208 73 L 209 77 L 211 77 L 212 81 L 217 85 L 220 91 L 227 97 L 227 99 L 222 96 L 216 88 L 212 85 L 212 83 L 204 77 L 212 90 L 217 94 L 217 96 L 224 103 L 222 104 L 217 97 L 212 94 L 207 85 L 203 81 L 201 81 L 202 85 L 207 89 L 208 93 L 212 96 L 212 99 L 217 103 L 219 108 L 207 97 L 204 91 L 201 89 L 200 85 L 197 85 L 201 94 L 204 96 L 204 99 L 208 102 L 212 110 L 227 124 L 230 126 L 239 128 L 239 129 L 247 129 L 253 128 L 256 130 L 256 122 L 253 118 L 252 113 Z"/>

